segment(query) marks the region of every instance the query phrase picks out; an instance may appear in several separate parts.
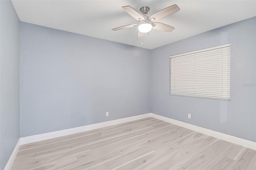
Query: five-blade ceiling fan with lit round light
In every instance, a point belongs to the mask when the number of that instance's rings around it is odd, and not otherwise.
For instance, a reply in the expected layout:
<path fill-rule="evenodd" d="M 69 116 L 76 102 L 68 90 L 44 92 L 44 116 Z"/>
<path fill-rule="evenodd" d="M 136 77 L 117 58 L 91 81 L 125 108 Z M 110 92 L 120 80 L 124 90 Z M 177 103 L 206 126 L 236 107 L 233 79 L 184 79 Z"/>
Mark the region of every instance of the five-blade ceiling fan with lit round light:
<path fill-rule="evenodd" d="M 126 26 L 121 26 L 118 28 L 112 29 L 113 31 L 122 30 L 125 28 L 132 28 L 135 26 L 138 26 L 138 36 L 137 38 L 142 38 L 145 33 L 150 32 L 150 30 L 153 28 L 154 30 L 160 30 L 160 31 L 166 31 L 166 32 L 172 32 L 174 30 L 174 27 L 156 22 L 158 20 L 161 20 L 162 18 L 172 15 L 175 12 L 178 12 L 180 8 L 175 4 L 172 6 L 169 6 L 167 8 L 164 8 L 163 10 L 160 10 L 156 13 L 154 13 L 151 16 L 146 16 L 148 14 L 150 8 L 148 6 L 142 6 L 140 8 L 140 12 L 143 14 L 141 15 L 139 12 L 134 10 L 130 6 L 123 6 L 122 7 L 130 16 L 132 16 L 134 19 L 138 20 L 138 24 L 130 24 Z"/>

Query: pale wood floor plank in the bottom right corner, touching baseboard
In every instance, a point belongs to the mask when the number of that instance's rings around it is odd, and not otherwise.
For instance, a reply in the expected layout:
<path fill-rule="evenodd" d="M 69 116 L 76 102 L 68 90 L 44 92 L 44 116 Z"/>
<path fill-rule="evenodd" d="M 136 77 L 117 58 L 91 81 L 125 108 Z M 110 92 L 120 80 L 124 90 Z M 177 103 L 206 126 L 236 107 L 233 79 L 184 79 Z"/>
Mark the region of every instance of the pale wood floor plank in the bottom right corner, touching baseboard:
<path fill-rule="evenodd" d="M 256 150 L 246 148 L 229 170 L 256 170 Z"/>

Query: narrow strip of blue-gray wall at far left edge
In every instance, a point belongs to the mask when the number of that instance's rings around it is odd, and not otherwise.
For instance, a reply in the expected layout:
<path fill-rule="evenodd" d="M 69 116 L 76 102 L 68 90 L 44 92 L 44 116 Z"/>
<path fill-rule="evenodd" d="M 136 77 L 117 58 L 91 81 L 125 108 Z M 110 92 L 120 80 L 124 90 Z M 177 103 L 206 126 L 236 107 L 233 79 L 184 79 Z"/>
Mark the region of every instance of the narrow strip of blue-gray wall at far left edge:
<path fill-rule="evenodd" d="M 0 169 L 20 137 L 20 20 L 10 0 L 0 0 Z"/>

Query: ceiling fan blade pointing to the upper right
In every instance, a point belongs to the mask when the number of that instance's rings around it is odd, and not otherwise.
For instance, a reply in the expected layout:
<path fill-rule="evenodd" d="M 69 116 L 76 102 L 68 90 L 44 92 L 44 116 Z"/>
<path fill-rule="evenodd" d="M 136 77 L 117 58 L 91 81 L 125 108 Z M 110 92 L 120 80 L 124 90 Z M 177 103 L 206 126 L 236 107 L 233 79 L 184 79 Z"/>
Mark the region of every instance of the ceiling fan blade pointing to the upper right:
<path fill-rule="evenodd" d="M 179 10 L 180 10 L 180 8 L 175 4 L 175 5 L 169 6 L 167 8 L 164 8 L 163 10 L 160 10 L 160 11 L 154 13 L 148 19 L 150 19 L 150 20 L 154 19 L 153 21 L 161 20 L 162 18 L 172 15 L 175 12 L 178 12 Z"/>

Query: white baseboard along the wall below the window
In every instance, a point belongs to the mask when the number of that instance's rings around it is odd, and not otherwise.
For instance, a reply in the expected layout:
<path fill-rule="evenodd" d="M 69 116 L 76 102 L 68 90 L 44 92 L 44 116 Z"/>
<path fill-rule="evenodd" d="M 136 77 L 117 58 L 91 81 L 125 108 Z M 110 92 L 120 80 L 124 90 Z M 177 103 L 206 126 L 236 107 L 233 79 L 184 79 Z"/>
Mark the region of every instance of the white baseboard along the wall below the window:
<path fill-rule="evenodd" d="M 175 125 L 178 125 L 178 126 L 182 126 L 184 128 L 190 129 L 190 130 L 194 130 L 196 132 L 200 132 L 202 134 L 206 134 L 208 136 L 212 136 L 212 137 L 215 137 L 215 138 L 218 138 L 218 139 L 221 139 L 221 140 L 226 140 L 228 142 L 231 142 L 231 143 L 234 143 L 234 144 L 244 146 L 246 148 L 256 150 L 256 142 L 252 142 L 250 140 L 245 140 L 245 139 L 238 138 L 238 137 L 235 137 L 235 136 L 231 136 L 231 135 L 228 135 L 228 134 L 223 134 L 223 133 L 216 132 L 216 131 L 213 131 L 213 130 L 209 130 L 209 129 L 206 129 L 206 128 L 201 128 L 199 126 L 195 126 L 195 125 L 192 125 L 192 124 L 180 122 L 178 120 L 174 120 L 174 119 L 171 119 L 171 118 L 160 116 L 160 115 L 154 114 L 154 113 L 150 113 L 150 116 L 153 117 L 153 118 L 159 119 L 159 120 L 163 120 L 165 122 L 169 122 L 169 123 L 172 123 L 172 124 L 175 124 Z"/>

